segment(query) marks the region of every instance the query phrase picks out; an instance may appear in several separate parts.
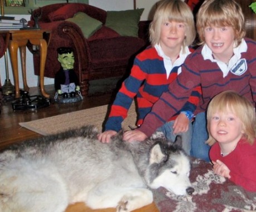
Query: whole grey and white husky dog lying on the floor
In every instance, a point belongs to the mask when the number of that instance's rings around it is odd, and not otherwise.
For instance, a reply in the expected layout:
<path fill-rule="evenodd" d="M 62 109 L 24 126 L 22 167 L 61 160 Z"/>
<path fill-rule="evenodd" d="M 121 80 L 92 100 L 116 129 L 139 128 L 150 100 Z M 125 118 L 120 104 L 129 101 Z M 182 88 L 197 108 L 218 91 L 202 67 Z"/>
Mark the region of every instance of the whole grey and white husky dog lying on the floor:
<path fill-rule="evenodd" d="M 92 209 L 132 211 L 163 186 L 192 194 L 190 161 L 163 139 L 110 144 L 93 126 L 13 145 L 0 154 L 0 211 L 58 212 L 84 202 Z"/>

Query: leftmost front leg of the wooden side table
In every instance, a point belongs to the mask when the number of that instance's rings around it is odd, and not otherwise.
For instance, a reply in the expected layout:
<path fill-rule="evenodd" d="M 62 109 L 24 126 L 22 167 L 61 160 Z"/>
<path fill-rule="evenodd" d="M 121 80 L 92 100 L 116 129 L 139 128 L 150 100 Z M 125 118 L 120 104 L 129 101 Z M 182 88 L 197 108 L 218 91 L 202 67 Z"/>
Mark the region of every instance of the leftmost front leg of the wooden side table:
<path fill-rule="evenodd" d="M 18 43 L 15 41 L 9 41 L 9 54 L 12 61 L 12 71 L 15 86 L 15 98 L 19 98 L 19 76 L 18 76 Z"/>

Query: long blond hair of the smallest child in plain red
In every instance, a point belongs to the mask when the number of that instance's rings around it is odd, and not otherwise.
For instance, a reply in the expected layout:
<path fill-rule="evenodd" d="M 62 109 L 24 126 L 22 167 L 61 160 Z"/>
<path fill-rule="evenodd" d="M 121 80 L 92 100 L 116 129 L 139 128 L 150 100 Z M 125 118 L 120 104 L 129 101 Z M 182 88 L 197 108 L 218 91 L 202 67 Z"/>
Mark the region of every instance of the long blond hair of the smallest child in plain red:
<path fill-rule="evenodd" d="M 245 97 L 240 96 L 235 91 L 224 91 L 216 95 L 209 103 L 207 109 L 207 130 L 209 139 L 207 144 L 213 145 L 216 140 L 210 134 L 210 120 L 213 115 L 218 112 L 232 112 L 242 121 L 244 130 L 243 137 L 250 143 L 254 143 L 255 139 L 255 109 L 252 103 Z"/>

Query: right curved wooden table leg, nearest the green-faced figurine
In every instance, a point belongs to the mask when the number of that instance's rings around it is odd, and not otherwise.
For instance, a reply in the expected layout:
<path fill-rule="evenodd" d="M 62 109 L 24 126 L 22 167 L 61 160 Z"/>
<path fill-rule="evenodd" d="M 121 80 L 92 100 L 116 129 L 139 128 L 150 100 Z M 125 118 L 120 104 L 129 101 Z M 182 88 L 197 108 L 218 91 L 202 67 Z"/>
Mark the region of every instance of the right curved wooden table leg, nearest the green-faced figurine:
<path fill-rule="evenodd" d="M 49 98 L 50 95 L 45 91 L 45 62 L 47 55 L 47 42 L 44 39 L 40 40 L 40 90 L 43 96 Z"/>

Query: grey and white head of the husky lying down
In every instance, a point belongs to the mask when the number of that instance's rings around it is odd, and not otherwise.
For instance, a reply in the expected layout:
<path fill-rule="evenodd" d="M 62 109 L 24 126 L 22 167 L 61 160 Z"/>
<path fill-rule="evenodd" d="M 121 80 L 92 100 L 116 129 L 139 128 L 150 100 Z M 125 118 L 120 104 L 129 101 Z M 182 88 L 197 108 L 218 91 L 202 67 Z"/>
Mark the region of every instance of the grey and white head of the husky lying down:
<path fill-rule="evenodd" d="M 191 166 L 188 157 L 175 147 L 167 151 L 162 149 L 157 144 L 150 151 L 148 171 L 154 177 L 150 180 L 150 188 L 164 187 L 176 195 L 192 194 L 194 189 L 189 180 Z"/>

